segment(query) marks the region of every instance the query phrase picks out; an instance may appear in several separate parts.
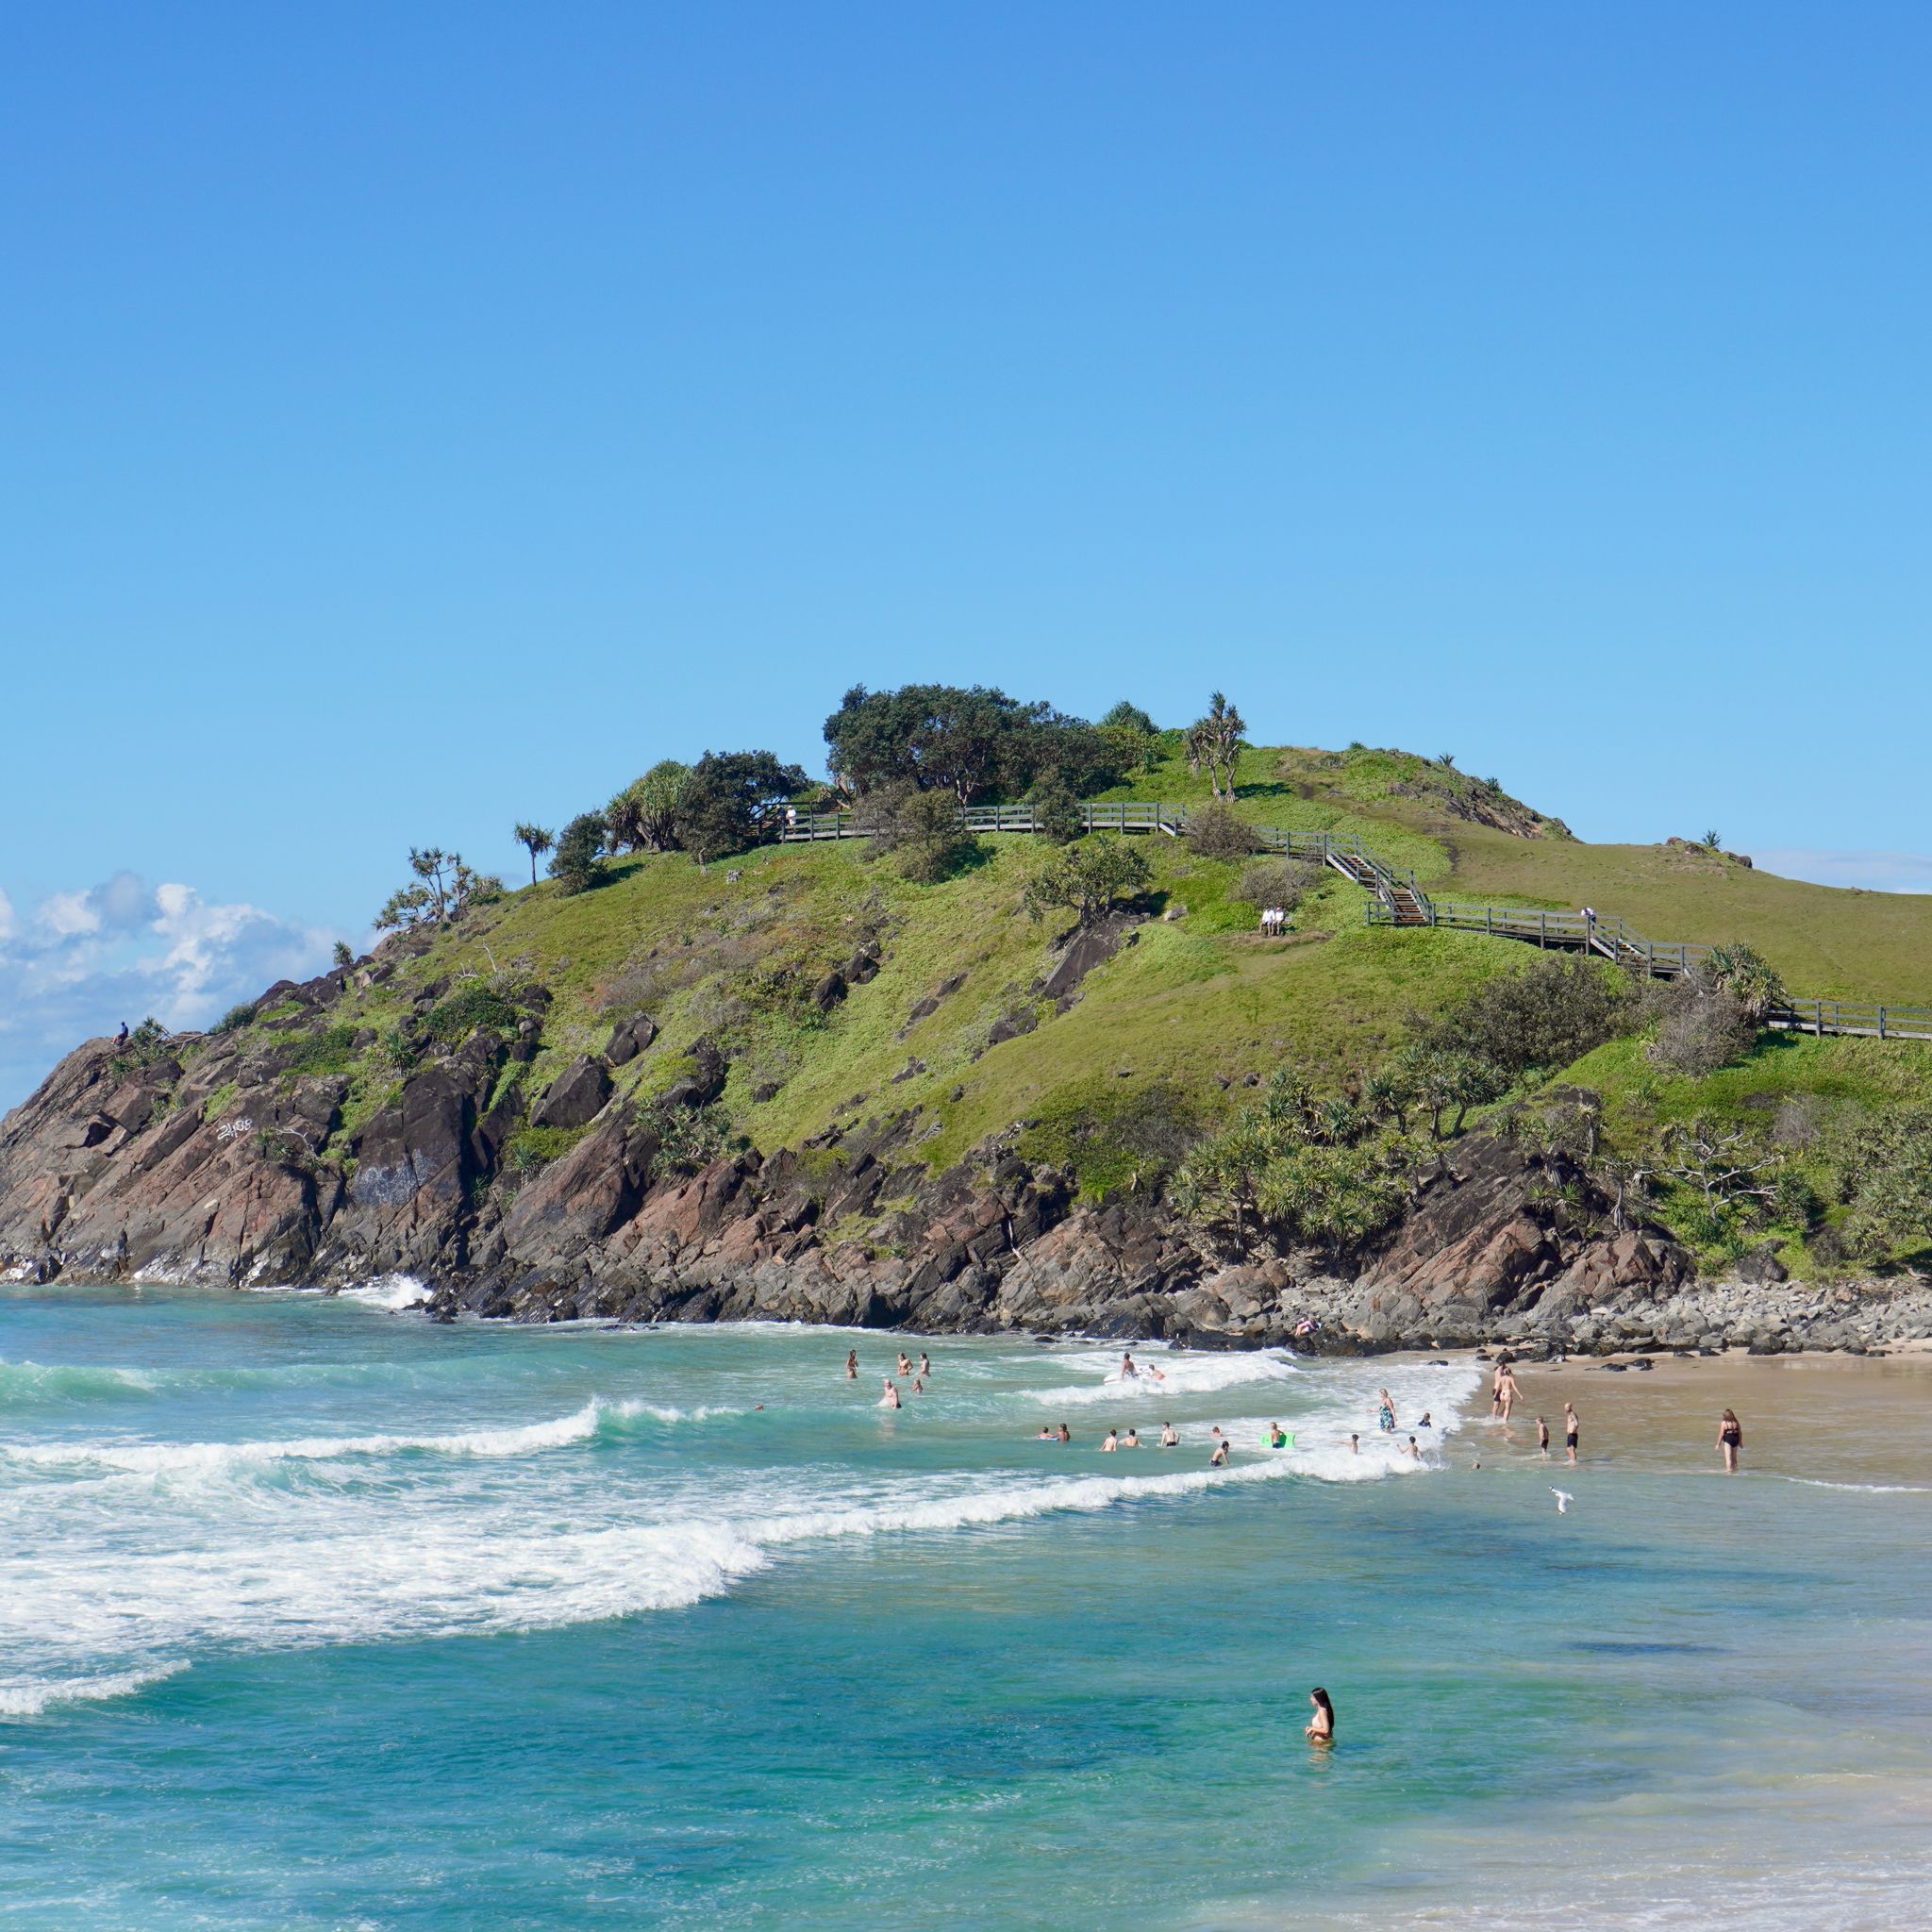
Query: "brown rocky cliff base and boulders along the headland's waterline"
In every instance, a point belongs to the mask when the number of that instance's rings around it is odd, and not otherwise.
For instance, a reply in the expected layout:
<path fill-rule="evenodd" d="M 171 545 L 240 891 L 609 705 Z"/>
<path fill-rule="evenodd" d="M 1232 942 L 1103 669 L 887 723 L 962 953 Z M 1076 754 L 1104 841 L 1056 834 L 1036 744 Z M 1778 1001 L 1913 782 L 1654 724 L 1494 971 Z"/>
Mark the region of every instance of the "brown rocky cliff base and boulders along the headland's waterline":
<path fill-rule="evenodd" d="M 278 991 L 327 1003 L 328 985 Z M 340 1080 L 220 1036 L 197 1047 L 187 1065 L 129 1068 L 114 1041 L 89 1041 L 8 1115 L 0 1279 L 327 1289 L 406 1273 L 440 1318 L 781 1320 L 1327 1352 L 1864 1352 L 1932 1335 L 1932 1283 L 1791 1283 L 1768 1254 L 1700 1279 L 1662 1231 L 1613 1231 L 1609 1204 L 1561 1155 L 1482 1134 L 1445 1146 L 1405 1219 L 1339 1264 L 1215 1252 L 1146 1198 L 1082 1206 L 1065 1173 L 1010 1146 L 933 1175 L 916 1155 L 929 1128 L 918 1109 L 676 1171 L 665 1099 L 614 1099 L 593 1063 L 545 1095 L 582 1115 L 566 1122 L 582 1138 L 504 1188 L 510 1122 L 485 1105 L 495 1051 L 456 1047 L 344 1134 Z M 723 1080 L 699 1051 L 670 1105 L 701 1107 Z"/>

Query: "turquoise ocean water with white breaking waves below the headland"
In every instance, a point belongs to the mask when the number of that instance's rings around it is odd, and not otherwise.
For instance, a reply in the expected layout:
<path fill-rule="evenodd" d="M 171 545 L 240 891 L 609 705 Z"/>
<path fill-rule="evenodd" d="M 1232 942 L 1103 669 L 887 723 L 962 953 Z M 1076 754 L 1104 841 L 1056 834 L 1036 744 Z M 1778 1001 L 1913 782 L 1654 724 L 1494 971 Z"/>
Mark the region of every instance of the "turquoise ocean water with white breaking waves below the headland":
<path fill-rule="evenodd" d="M 0 1291 L 0 1924 L 1932 1922 L 1932 1474 L 1551 1474 L 1418 1362 L 947 1337 L 887 1414 L 908 1337 L 386 1300 Z"/>

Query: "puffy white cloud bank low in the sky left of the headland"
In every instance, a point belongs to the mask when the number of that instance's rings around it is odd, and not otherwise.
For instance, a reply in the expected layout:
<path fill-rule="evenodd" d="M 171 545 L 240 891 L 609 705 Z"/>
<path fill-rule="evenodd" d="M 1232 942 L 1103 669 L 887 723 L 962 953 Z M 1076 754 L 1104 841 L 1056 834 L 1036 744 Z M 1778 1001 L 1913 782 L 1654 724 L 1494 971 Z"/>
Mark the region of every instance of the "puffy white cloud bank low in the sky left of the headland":
<path fill-rule="evenodd" d="M 191 885 L 131 871 L 50 893 L 27 920 L 0 893 L 0 1107 L 62 1053 L 126 1020 L 207 1026 L 276 980 L 328 964 L 336 933 L 249 904 L 209 904 Z"/>

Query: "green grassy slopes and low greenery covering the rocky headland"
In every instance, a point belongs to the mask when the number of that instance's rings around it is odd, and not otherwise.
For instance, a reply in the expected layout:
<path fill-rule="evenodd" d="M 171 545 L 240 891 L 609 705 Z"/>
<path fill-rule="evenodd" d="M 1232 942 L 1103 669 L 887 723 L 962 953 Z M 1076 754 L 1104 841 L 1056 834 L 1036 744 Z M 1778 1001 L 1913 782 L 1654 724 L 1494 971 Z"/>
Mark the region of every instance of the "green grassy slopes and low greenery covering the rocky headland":
<path fill-rule="evenodd" d="M 1588 902 L 1658 939 L 1745 941 L 1795 993 L 1932 1001 L 1926 898 L 1799 885 L 1704 848 L 1584 844 L 1493 781 L 1412 753 L 1244 748 L 1221 777 L 1250 823 L 1356 833 L 1437 895 Z M 1209 790 L 1169 732 L 1099 796 L 1200 806 Z M 1159 835 L 1134 844 L 1148 877 L 1132 941 L 1070 1003 L 1043 989 L 1070 918 L 1028 912 L 1028 885 L 1055 856 L 1047 840 L 966 840 L 929 883 L 902 852 L 840 840 L 757 844 L 711 864 L 634 848 L 601 858 L 589 889 L 553 877 L 485 891 L 460 918 L 425 922 L 352 970 L 348 993 L 307 1028 L 286 999 L 224 1028 L 278 1041 L 288 1080 L 346 1080 L 340 1138 L 390 1105 L 413 1066 L 477 1030 L 508 1045 L 533 1020 L 541 1028 L 527 1065 L 506 1059 L 489 1094 L 514 1117 L 599 1055 L 620 1022 L 649 1016 L 655 1041 L 612 1066 L 618 1095 L 649 1105 L 692 1072 L 701 1041 L 724 1055 L 723 1095 L 692 1124 L 697 1151 L 705 1136 L 802 1148 L 900 1115 L 935 1171 L 999 1142 L 1068 1169 L 1088 1198 L 1196 1184 L 1211 1165 L 1202 1150 L 1293 1066 L 1327 1124 L 1275 1159 L 1267 1184 L 1279 1194 L 1304 1169 L 1318 1182 L 1349 1169 L 1350 1186 L 1393 1198 L 1376 1163 L 1408 1157 L 1403 1136 L 1418 1138 L 1428 1109 L 1410 1101 L 1397 1134 L 1383 1109 L 1391 1068 L 1434 1053 L 1424 1074 L 1461 1080 L 1453 1065 L 1443 1074 L 1453 1024 L 1434 1022 L 1538 954 L 1478 933 L 1370 927 L 1364 893 L 1331 871 L 1304 881 L 1291 937 L 1262 939 L 1242 856 Z M 1789 1179 L 1776 1202 L 1712 1219 L 1671 1179 L 1654 1180 L 1652 1202 L 1710 1262 L 1774 1244 L 1799 1273 L 1832 1265 L 1830 1231 L 1857 1213 L 1835 1182 L 1832 1121 L 1932 1105 L 1932 1049 L 1760 1036 L 1692 1076 L 1658 1063 L 1650 1024 L 1631 1018 L 1575 1065 L 1513 1072 L 1501 1090 L 1459 1088 L 1439 1121 L 1515 1122 L 1542 1095 L 1582 1086 L 1602 1095 L 1611 1150 L 1692 1126 L 1756 1144 L 1774 1119 L 1789 1126 L 1804 1111 L 1785 1103 L 1804 1101 L 1816 1132 L 1779 1142 Z M 578 1138 L 526 1121 L 502 1184 Z M 1918 1252 L 1909 1238 L 1889 1248 L 1893 1262 Z"/>

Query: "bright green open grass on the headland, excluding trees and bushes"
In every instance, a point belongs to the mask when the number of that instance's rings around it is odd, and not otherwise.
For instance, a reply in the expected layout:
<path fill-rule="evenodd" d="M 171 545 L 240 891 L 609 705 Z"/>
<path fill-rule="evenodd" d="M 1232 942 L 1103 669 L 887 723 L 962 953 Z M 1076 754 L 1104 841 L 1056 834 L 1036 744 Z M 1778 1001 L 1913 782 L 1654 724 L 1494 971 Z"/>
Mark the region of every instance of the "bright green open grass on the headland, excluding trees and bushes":
<path fill-rule="evenodd" d="M 1658 939 L 1743 939 L 1797 993 L 1932 1003 L 1932 898 L 1799 885 L 1559 831 L 1513 837 L 1455 817 L 1443 800 L 1476 798 L 1536 823 L 1528 808 L 1408 753 L 1252 750 L 1236 781 L 1248 819 L 1358 833 L 1435 893 L 1594 904 Z M 1169 759 L 1111 796 L 1188 804 L 1208 784 Z M 1016 1130 L 1022 1151 L 1068 1163 L 1092 1196 L 1165 1171 L 1285 1057 L 1347 1086 L 1403 1041 L 1412 1014 L 1439 1012 L 1526 958 L 1478 933 L 1370 927 L 1362 891 L 1333 873 L 1310 889 L 1294 937 L 1267 943 L 1254 933 L 1256 908 L 1236 896 L 1240 862 L 1161 835 L 1140 848 L 1153 867 L 1148 910 L 1173 918 L 1150 918 L 1065 1014 L 1037 991 L 1061 925 L 1036 923 L 1022 906 L 1047 858 L 1041 842 L 981 838 L 970 866 L 927 887 L 869 862 L 858 842 L 765 846 L 709 869 L 682 854 L 626 858 L 611 883 L 578 896 L 549 881 L 510 891 L 330 1009 L 299 1070 L 348 1074 L 354 1124 L 398 1092 L 398 1030 L 419 1010 L 412 995 L 435 985 L 448 1032 L 479 1016 L 500 1024 L 508 1009 L 489 989 L 539 980 L 553 993 L 541 1051 L 527 1068 L 504 1068 L 493 1101 L 516 1084 L 533 1099 L 574 1057 L 599 1051 L 618 1018 L 649 1012 L 663 1037 L 618 1068 L 626 1094 L 668 1086 L 709 1036 L 730 1061 L 724 1111 L 759 1148 L 918 1109 L 929 1165 Z M 813 989 L 867 941 L 881 952 L 877 976 L 821 1014 Z M 925 1001 L 933 1009 L 912 1018 Z M 989 1043 L 1001 1022 L 1028 1020 L 1030 1032 Z M 354 1047 L 357 1030 L 377 1043 Z M 1694 1111 L 1762 1121 L 1787 1092 L 1924 1095 L 1932 1049 L 1768 1039 L 1741 1066 L 1675 1082 L 1640 1043 L 1617 1041 L 1567 1078 L 1600 1086 L 1615 1121 Z M 526 1136 L 522 1151 L 541 1159 L 554 1148 Z"/>

